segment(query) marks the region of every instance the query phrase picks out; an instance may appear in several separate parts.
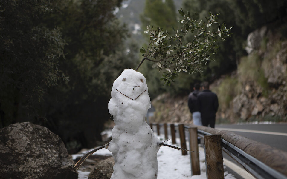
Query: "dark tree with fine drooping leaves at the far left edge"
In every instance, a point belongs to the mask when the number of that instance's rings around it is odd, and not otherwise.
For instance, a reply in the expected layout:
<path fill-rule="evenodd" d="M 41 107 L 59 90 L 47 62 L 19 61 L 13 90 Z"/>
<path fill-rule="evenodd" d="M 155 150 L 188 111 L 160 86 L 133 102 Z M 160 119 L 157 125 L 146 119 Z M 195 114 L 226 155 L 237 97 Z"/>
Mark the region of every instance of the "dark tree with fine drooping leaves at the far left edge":
<path fill-rule="evenodd" d="M 48 87 L 59 79 L 65 39 L 58 27 L 42 23 L 54 6 L 47 1 L 1 1 L 0 111 L 1 126 L 18 122 L 19 113 L 32 118 Z M 28 111 L 28 112 L 25 112 Z"/>

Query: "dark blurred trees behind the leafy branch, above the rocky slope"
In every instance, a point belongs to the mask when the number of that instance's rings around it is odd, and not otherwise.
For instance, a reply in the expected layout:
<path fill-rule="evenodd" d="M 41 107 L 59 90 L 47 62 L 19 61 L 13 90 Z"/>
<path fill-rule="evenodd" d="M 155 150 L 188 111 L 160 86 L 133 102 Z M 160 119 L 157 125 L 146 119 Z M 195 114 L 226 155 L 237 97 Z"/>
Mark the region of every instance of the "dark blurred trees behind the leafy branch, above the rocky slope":
<path fill-rule="evenodd" d="M 176 1 L 174 2 L 176 3 Z M 220 48 L 217 53 L 211 57 L 211 60 L 207 63 L 206 69 L 203 70 L 202 74 L 196 73 L 189 75 L 183 73 L 181 76 L 178 76 L 175 83 L 171 83 L 168 88 L 158 85 L 162 83 L 159 80 L 162 78 L 162 74 L 151 70 L 153 63 L 143 64 L 144 67 L 140 71 L 149 77 L 147 83 L 149 88 L 151 88 L 150 93 L 152 97 L 156 97 L 162 92 L 169 92 L 173 95 L 188 94 L 195 82 L 213 82 L 221 75 L 236 70 L 241 58 L 247 55 L 244 47 L 247 45 L 246 39 L 248 34 L 274 21 L 284 23 L 287 1 L 274 1 L 274 4 L 270 4 L 270 2 L 267 1 L 256 0 L 184 0 L 181 7 L 183 10 L 189 11 L 192 16 L 195 14 L 194 18 L 199 21 L 205 21 L 205 17 L 208 16 L 209 12 L 219 14 L 218 22 L 224 22 L 228 27 L 233 27 L 233 29 L 230 30 L 231 38 L 216 43 Z M 161 12 L 161 6 L 157 7 L 157 12 Z M 180 16 L 177 16 L 177 20 L 181 20 Z M 155 20 L 153 22 L 154 24 L 150 25 L 157 27 L 159 22 L 155 22 Z M 276 26 L 271 28 L 276 29 Z M 281 31 L 283 37 L 286 37 L 284 29 L 281 29 Z M 192 35 L 187 36 L 187 41 L 191 41 L 192 38 Z"/>

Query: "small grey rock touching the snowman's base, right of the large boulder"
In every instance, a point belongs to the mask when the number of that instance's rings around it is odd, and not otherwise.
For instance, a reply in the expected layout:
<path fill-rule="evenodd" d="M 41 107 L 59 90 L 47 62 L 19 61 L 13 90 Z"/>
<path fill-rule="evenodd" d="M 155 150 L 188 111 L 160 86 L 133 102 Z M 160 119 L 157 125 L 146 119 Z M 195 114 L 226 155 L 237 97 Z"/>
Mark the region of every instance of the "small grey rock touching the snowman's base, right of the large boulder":
<path fill-rule="evenodd" d="M 94 168 L 94 171 L 90 173 L 88 179 L 110 179 L 113 172 L 115 161 L 114 158 L 108 158 L 104 161 L 101 161 Z"/>

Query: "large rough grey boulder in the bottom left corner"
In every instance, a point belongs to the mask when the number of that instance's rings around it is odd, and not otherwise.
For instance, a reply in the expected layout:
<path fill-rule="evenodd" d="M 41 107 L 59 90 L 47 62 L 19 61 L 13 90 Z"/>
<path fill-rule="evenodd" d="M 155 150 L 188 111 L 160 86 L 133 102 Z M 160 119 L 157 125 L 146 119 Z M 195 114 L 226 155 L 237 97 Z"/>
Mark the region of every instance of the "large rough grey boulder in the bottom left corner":
<path fill-rule="evenodd" d="M 61 138 L 30 122 L 0 129 L 0 163 L 0 178 L 78 178 Z"/>

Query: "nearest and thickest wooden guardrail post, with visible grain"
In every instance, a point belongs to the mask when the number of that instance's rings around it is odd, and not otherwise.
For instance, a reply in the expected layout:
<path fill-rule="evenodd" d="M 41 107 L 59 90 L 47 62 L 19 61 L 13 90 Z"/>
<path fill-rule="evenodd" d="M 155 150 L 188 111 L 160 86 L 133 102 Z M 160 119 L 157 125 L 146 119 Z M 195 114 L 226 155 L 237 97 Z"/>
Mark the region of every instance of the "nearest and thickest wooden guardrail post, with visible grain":
<path fill-rule="evenodd" d="M 207 179 L 224 179 L 221 135 L 204 135 Z"/>

